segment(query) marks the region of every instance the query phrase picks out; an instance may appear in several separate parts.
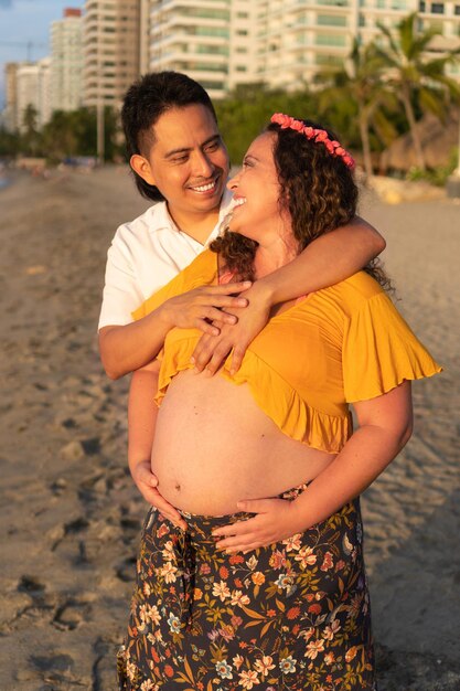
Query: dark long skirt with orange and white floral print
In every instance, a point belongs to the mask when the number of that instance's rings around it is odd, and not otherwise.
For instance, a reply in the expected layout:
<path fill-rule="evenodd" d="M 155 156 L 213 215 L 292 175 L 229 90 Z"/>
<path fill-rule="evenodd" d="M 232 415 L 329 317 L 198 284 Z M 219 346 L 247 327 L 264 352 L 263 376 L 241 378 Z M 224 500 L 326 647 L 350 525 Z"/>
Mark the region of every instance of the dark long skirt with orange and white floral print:
<path fill-rule="evenodd" d="M 249 514 L 183 515 L 147 517 L 120 691 L 375 691 L 359 500 L 247 554 L 212 530 Z"/>

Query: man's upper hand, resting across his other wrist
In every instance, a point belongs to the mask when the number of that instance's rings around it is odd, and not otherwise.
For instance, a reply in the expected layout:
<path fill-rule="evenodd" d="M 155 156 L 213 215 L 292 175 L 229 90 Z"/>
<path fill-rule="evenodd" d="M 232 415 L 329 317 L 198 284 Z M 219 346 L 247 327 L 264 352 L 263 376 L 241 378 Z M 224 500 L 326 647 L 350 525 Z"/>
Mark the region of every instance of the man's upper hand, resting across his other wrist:
<path fill-rule="evenodd" d="M 235 297 L 235 294 L 247 290 L 250 285 L 250 281 L 244 280 L 225 286 L 202 286 L 178 295 L 162 305 L 163 320 L 169 328 L 197 328 L 216 336 L 222 325 L 236 323 L 237 317 L 226 310 L 233 312 L 247 307 L 247 298 Z"/>

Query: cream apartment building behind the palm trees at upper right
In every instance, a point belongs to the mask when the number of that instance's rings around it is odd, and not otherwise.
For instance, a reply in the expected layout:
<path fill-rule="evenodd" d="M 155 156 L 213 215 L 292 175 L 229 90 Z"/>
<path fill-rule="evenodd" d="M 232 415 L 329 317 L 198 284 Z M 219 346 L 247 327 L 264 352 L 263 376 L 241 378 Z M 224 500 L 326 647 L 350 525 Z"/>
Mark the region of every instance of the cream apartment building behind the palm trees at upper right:
<path fill-rule="evenodd" d="M 381 35 L 378 23 L 395 26 L 418 11 L 419 28 L 435 26 L 439 51 L 460 45 L 460 0 L 256 0 L 256 81 L 295 89 L 324 67 L 346 61 L 355 36 L 364 43 Z M 459 74 L 459 67 L 450 67 Z"/>

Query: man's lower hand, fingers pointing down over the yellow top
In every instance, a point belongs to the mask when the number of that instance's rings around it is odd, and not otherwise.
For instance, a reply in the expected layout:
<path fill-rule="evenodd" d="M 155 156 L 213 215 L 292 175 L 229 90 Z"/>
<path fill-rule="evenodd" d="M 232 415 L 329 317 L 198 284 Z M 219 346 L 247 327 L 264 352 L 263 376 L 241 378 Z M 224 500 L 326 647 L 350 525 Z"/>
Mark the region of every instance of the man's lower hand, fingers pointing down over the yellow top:
<path fill-rule="evenodd" d="M 192 354 L 192 362 L 199 372 L 206 368 L 215 374 L 231 351 L 231 372 L 237 372 L 247 347 L 266 326 L 270 316 L 271 296 L 265 286 L 256 283 L 242 297 L 246 298 L 248 305 L 244 309 L 233 308 L 236 323 L 222 325 L 217 336 L 207 331 L 201 337 Z"/>

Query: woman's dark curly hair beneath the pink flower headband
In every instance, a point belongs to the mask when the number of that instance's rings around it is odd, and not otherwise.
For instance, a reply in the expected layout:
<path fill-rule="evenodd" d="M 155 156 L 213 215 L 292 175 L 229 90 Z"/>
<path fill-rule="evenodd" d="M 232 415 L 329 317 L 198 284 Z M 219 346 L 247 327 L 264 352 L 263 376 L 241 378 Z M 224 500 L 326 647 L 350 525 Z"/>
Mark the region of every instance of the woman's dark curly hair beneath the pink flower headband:
<path fill-rule="evenodd" d="M 324 129 L 311 120 L 302 123 L 306 127 Z M 357 187 L 342 157 L 332 156 L 322 142 L 290 128 L 281 129 L 275 123 L 264 131 L 277 135 L 274 159 L 281 190 L 280 211 L 290 214 L 300 253 L 320 235 L 351 222 L 356 214 Z M 333 132 L 325 131 L 331 140 L 336 139 Z M 255 241 L 226 228 L 211 244 L 211 249 L 220 253 L 225 267 L 238 278 L 254 280 Z M 365 270 L 383 287 L 388 287 L 378 262 L 372 262 Z"/>

